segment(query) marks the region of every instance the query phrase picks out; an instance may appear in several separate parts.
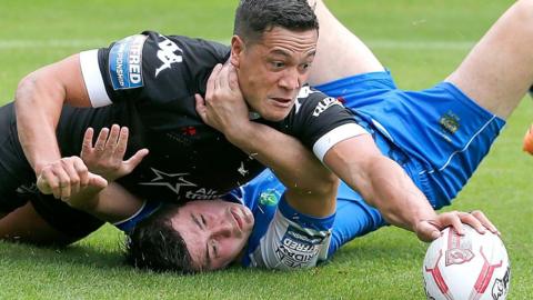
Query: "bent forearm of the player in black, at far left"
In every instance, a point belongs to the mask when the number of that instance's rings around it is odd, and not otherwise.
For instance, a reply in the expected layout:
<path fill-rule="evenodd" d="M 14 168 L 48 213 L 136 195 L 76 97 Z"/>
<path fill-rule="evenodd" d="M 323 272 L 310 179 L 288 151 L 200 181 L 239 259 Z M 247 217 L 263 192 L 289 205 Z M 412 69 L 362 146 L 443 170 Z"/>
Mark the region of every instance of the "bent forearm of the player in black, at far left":
<path fill-rule="evenodd" d="M 57 99 L 64 94 L 50 92 L 50 87 L 42 87 L 34 76 L 19 83 L 14 106 L 20 143 L 31 167 L 39 173 L 47 163 L 61 159 L 56 127 L 62 101 Z"/>

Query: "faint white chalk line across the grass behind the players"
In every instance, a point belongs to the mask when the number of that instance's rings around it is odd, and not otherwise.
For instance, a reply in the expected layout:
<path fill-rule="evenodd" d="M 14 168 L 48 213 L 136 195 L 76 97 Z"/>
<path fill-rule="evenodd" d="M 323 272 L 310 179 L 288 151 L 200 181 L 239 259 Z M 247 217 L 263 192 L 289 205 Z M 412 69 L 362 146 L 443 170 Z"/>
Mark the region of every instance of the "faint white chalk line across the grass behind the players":
<path fill-rule="evenodd" d="M 56 39 L 56 40 L 0 40 L 0 50 L 19 49 L 89 49 L 94 47 L 105 47 L 112 41 L 100 39 Z M 219 41 L 228 43 L 229 41 Z M 399 49 L 399 50 L 469 50 L 474 46 L 470 41 L 400 41 L 400 40 L 366 40 L 366 44 L 372 49 Z"/>

